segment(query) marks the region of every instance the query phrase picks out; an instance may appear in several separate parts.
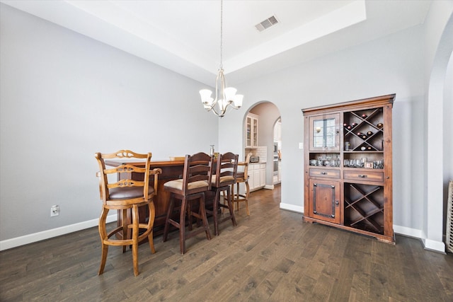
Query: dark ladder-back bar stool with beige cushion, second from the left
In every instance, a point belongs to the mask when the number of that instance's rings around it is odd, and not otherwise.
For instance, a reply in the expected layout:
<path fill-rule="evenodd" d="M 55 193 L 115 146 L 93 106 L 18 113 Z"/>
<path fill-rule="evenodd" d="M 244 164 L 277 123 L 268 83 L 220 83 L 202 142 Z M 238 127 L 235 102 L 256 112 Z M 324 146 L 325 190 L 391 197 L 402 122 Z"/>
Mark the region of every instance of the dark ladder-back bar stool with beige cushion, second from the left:
<path fill-rule="evenodd" d="M 205 210 L 205 192 L 211 189 L 212 163 L 213 159 L 206 153 L 186 155 L 183 178 L 171 180 L 164 184 L 164 190 L 170 192 L 170 204 L 163 239 L 164 242 L 168 240 L 170 225 L 178 228 L 181 254 L 186 251 L 185 240 L 188 238 L 204 231 L 207 240 L 211 240 Z M 180 205 L 176 205 L 176 199 L 180 201 Z M 197 201 L 198 204 L 195 204 Z M 173 217 L 174 212 L 179 212 L 179 220 Z M 188 221 L 186 221 L 186 216 L 188 216 Z M 192 217 L 195 217 L 197 221 L 202 221 L 202 227 L 195 231 L 193 231 Z M 188 223 L 188 231 L 185 230 L 186 223 Z"/>

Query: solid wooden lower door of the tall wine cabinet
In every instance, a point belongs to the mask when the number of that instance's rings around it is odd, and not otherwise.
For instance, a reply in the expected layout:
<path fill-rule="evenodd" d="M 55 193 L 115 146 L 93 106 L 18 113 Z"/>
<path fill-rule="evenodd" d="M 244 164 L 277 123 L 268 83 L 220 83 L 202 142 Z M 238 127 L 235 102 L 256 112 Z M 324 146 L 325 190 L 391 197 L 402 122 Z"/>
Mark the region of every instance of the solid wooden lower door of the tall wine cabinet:
<path fill-rule="evenodd" d="M 323 221 L 340 223 L 340 182 L 310 180 L 309 216 Z"/>

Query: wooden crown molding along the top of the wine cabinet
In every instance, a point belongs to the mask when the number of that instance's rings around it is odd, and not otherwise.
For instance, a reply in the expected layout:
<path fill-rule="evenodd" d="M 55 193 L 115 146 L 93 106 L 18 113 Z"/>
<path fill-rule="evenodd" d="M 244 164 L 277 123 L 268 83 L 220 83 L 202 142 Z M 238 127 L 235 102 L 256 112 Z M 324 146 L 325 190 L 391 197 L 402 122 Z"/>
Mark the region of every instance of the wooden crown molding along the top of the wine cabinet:
<path fill-rule="evenodd" d="M 360 110 L 362 108 L 372 108 L 372 107 L 382 107 L 383 105 L 390 105 L 393 107 L 394 100 L 395 100 L 395 93 L 389 95 L 381 95 L 374 98 L 363 98 L 361 100 L 351 100 L 349 102 L 343 103 L 336 103 L 332 105 L 323 105 L 318 107 L 312 108 L 305 108 L 302 109 L 304 115 L 310 115 L 311 113 L 316 113 L 319 111 L 329 112 L 329 111 L 336 111 L 340 108 L 345 108 L 348 106 L 348 111 L 350 110 Z"/>

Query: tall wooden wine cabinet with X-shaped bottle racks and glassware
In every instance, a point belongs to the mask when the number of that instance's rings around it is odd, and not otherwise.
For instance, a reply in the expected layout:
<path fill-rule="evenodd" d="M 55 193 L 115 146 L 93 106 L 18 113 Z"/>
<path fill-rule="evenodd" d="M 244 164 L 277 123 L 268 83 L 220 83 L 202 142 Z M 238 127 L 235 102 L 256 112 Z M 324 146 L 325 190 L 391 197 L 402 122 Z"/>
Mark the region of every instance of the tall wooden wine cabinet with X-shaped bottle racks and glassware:
<path fill-rule="evenodd" d="M 304 221 L 395 242 L 394 99 L 391 94 L 302 110 L 309 146 L 304 149 Z"/>

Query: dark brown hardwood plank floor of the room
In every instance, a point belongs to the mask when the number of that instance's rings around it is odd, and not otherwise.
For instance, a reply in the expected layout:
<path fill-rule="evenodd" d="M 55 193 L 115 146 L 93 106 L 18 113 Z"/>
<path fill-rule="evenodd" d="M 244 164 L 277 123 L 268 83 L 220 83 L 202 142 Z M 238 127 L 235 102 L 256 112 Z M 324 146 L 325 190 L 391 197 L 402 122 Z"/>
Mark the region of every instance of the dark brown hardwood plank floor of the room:
<path fill-rule="evenodd" d="M 302 222 L 279 209 L 280 187 L 251 194 L 219 236 L 204 233 L 180 255 L 177 233 L 156 254 L 110 247 L 98 276 L 97 228 L 0 252 L 0 301 L 453 301 L 453 255 L 418 239 L 381 243 Z M 212 219 L 210 219 L 212 226 Z"/>

